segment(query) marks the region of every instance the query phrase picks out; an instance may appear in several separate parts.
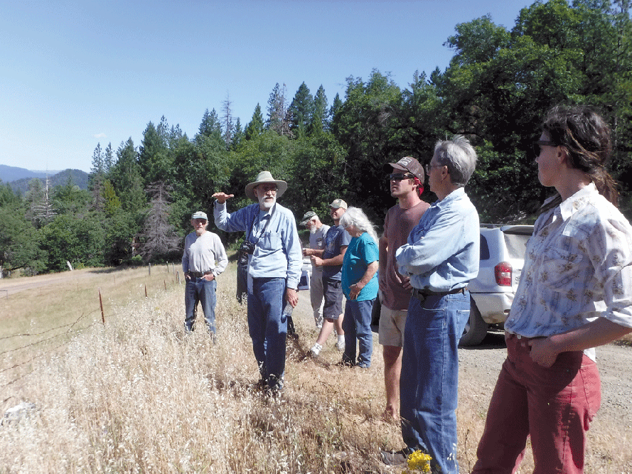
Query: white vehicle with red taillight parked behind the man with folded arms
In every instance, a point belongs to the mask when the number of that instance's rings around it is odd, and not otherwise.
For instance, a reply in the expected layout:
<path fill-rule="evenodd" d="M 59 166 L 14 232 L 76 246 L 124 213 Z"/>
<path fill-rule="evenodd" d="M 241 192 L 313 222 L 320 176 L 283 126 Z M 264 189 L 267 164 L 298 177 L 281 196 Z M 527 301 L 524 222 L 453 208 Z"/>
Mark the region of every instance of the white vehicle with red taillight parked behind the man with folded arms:
<path fill-rule="evenodd" d="M 518 289 L 532 233 L 532 225 L 481 224 L 481 263 L 478 276 L 468 284 L 470 320 L 459 345 L 478 345 L 490 326 L 502 328 Z"/>

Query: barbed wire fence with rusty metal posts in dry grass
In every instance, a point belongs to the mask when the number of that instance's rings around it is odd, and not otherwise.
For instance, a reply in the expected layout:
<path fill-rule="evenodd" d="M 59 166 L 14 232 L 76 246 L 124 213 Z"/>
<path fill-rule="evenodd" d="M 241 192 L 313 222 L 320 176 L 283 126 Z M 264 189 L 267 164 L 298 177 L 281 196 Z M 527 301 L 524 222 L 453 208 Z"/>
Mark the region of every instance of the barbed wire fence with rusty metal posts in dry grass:
<path fill-rule="evenodd" d="M 169 271 L 169 266 L 172 267 L 172 271 Z M 163 280 L 164 291 L 168 291 L 168 285 L 175 286 L 175 285 L 181 284 L 180 273 L 176 270 L 175 264 L 167 264 L 167 271 L 169 274 L 173 273 L 173 275 L 171 276 L 171 279 L 169 282 L 167 282 L 167 279 Z M 151 264 L 148 265 L 148 275 L 151 277 Z M 7 298 L 9 297 L 8 293 L 5 297 Z M 144 297 L 149 298 L 149 293 L 147 291 L 146 283 L 144 283 Z M 125 306 L 127 306 L 127 304 L 128 303 L 117 304 L 114 302 L 110 302 L 110 303 L 106 303 L 105 307 L 109 310 L 108 311 L 109 314 L 113 314 L 116 308 L 122 309 Z M 101 318 L 98 318 L 99 314 Z M 94 318 L 95 316 L 97 316 L 97 318 Z M 80 325 L 82 321 L 90 317 L 94 318 L 91 323 L 87 325 Z M 37 350 L 37 348 L 41 347 L 42 345 L 45 345 L 47 343 L 50 344 L 55 341 L 59 341 L 60 339 L 63 339 L 61 342 L 57 342 L 55 345 L 45 348 L 44 350 L 38 350 L 38 352 L 35 355 L 32 355 L 30 358 L 28 358 L 28 360 L 20 360 L 19 362 L 16 362 L 9 367 L 0 368 L 0 375 L 11 373 L 11 371 L 17 371 L 18 369 L 20 369 L 20 367 L 27 366 L 36 360 L 40 360 L 43 357 L 47 357 L 53 352 L 58 351 L 61 348 L 63 348 L 65 345 L 68 345 L 68 343 L 70 343 L 70 341 L 73 339 L 74 335 L 78 335 L 82 333 L 83 331 L 94 327 L 95 325 L 105 325 L 106 323 L 105 320 L 106 320 L 106 316 L 105 316 L 105 310 L 104 310 L 102 291 L 99 288 L 99 307 L 95 310 L 82 313 L 72 323 L 55 326 L 54 328 L 49 328 L 41 332 L 17 333 L 17 334 L 11 334 L 4 337 L 0 337 L 0 347 L 3 346 L 6 343 L 6 341 L 16 340 L 18 338 L 29 338 L 28 340 L 31 341 L 26 344 L 19 345 L 18 347 L 14 347 L 7 350 L 0 350 L 0 359 L 4 359 L 5 357 L 11 357 L 11 355 L 20 353 L 21 351 L 24 351 L 24 350 L 29 350 L 33 348 L 36 348 Z M 46 337 L 41 338 L 42 336 L 46 336 Z M 33 338 L 41 338 L 41 339 L 33 341 Z M 21 375 L 14 375 L 14 377 L 12 377 L 9 380 L 9 382 L 6 382 L 6 383 L 0 382 L 0 391 L 8 387 L 11 387 L 11 385 L 15 384 L 16 382 L 19 382 L 21 379 L 24 379 L 25 377 L 28 377 L 29 375 L 32 375 L 32 374 L 33 374 L 33 370 L 31 370 L 31 372 L 24 372 Z M 11 397 L 5 399 L 4 402 L 6 402 L 6 400 L 10 398 Z"/>

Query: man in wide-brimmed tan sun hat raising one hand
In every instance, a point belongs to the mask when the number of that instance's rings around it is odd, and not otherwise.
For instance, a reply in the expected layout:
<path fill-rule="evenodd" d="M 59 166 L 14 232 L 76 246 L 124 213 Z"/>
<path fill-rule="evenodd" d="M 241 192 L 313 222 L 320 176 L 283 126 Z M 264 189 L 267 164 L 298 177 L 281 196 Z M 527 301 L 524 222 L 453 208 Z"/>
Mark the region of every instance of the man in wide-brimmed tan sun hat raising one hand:
<path fill-rule="evenodd" d="M 215 225 L 226 232 L 246 232 L 248 329 L 261 374 L 259 384 L 273 394 L 283 388 L 288 328 L 284 308 L 299 302 L 296 288 L 303 265 L 294 215 L 277 203 L 286 189 L 285 181 L 262 171 L 245 190 L 258 203 L 232 213 L 226 210 L 226 200 L 234 195 L 213 194 Z"/>

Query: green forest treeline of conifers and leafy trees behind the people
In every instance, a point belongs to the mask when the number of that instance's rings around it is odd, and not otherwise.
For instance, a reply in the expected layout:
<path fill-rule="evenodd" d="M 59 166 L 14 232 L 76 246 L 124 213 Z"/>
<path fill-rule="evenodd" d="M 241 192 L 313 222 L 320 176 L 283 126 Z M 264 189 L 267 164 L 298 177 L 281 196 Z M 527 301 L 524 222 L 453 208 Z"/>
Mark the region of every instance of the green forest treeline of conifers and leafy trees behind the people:
<path fill-rule="evenodd" d="M 384 163 L 406 155 L 428 163 L 437 139 L 453 134 L 476 146 L 467 192 L 481 222 L 530 222 L 550 193 L 537 181 L 532 143 L 555 104 L 589 104 L 611 124 L 609 168 L 631 217 L 631 4 L 536 1 L 510 30 L 491 16 L 460 23 L 444 43 L 454 51 L 449 67 L 414 72 L 406 87 L 376 69 L 348 77 L 344 97 L 331 103 L 322 86 L 312 94 L 304 82 L 290 98 L 277 84 L 245 125 L 227 98 L 220 112 L 207 109 L 191 138 L 165 117 L 149 122 L 137 145 L 130 137 L 117 149 L 97 146 L 88 190 L 35 180 L 16 195 L 0 185 L 0 267 L 36 274 L 66 261 L 178 259 L 191 212 L 212 212 L 218 190 L 235 194 L 232 210 L 247 204 L 245 185 L 264 169 L 289 183 L 280 202 L 296 217 L 310 209 L 326 216 L 341 197 L 380 225 L 394 204 Z"/>

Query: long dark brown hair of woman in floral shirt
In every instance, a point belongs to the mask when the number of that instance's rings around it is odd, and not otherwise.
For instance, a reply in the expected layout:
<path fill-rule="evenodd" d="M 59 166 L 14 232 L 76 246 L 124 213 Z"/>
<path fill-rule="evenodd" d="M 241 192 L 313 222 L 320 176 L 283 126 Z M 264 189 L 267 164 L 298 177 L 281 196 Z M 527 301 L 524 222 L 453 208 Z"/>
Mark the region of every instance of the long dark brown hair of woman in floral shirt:
<path fill-rule="evenodd" d="M 601 115 L 585 106 L 553 107 L 542 130 L 550 141 L 566 150 L 570 166 L 584 171 L 599 194 L 617 205 L 617 184 L 606 170 L 606 161 L 612 153 L 611 132 Z M 561 201 L 558 195 L 542 211 L 554 208 Z"/>

